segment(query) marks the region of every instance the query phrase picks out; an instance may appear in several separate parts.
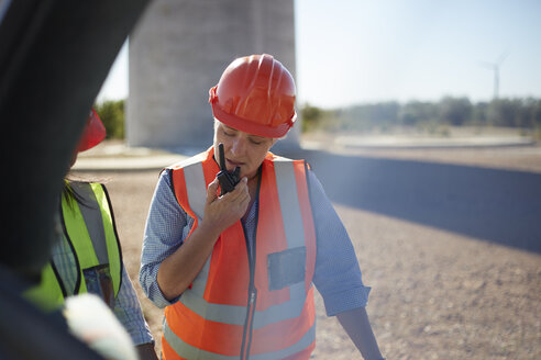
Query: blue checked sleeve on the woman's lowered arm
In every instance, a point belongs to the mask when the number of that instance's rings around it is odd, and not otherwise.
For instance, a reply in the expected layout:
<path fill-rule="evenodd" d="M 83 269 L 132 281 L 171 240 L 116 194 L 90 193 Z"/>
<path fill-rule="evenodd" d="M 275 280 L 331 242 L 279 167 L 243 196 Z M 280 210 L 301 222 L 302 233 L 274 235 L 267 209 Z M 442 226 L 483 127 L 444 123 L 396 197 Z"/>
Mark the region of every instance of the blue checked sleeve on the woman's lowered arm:
<path fill-rule="evenodd" d="M 371 288 L 363 284 L 350 236 L 312 171 L 308 183 L 318 247 L 313 284 L 323 297 L 327 315 L 366 306 Z"/>

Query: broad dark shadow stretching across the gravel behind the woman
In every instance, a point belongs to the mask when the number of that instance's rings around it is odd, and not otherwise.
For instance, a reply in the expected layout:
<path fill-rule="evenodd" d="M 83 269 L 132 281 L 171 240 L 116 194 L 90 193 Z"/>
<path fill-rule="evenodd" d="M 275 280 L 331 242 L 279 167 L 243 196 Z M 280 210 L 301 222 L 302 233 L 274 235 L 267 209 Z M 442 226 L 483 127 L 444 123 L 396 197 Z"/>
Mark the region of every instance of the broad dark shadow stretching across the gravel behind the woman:
<path fill-rule="evenodd" d="M 305 150 L 333 202 L 541 252 L 541 173 Z"/>

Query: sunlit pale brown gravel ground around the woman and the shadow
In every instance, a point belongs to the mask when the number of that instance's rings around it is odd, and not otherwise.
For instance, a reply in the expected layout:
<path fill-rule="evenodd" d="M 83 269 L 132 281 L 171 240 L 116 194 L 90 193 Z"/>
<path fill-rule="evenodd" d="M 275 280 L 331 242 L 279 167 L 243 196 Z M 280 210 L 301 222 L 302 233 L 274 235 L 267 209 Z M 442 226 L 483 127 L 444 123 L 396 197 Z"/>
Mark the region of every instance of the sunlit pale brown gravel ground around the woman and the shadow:
<path fill-rule="evenodd" d="M 541 172 L 540 147 L 349 151 Z M 158 172 L 80 175 L 108 183 L 124 262 L 159 349 L 163 311 L 144 296 L 137 280 Z M 352 237 L 363 280 L 373 288 L 367 311 L 387 359 L 541 359 L 540 254 L 356 207 L 335 209 Z M 313 359 L 362 358 L 338 320 L 324 315 L 319 295 L 317 320 Z"/>

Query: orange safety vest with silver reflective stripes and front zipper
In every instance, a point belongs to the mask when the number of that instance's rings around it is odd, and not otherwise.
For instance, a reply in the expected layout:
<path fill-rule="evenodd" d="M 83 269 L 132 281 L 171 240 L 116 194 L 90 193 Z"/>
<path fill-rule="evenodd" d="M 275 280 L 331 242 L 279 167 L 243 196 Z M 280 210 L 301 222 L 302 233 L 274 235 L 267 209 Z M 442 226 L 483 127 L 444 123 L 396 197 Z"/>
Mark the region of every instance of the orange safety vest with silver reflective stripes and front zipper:
<path fill-rule="evenodd" d="M 170 169 L 177 201 L 195 220 L 191 234 L 203 215 L 207 187 L 219 172 L 213 149 Z M 303 160 L 267 154 L 256 218 L 254 245 L 240 221 L 230 226 L 189 289 L 166 307 L 163 359 L 310 357 L 317 249 Z"/>

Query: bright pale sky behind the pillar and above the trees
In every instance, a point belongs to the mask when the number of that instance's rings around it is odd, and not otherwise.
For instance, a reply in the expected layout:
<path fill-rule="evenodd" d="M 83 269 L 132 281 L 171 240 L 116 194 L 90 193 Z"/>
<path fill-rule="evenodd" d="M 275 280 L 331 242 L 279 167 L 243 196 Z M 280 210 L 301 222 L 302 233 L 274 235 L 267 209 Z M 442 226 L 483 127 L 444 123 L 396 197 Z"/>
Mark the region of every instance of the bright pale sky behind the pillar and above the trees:
<path fill-rule="evenodd" d="M 298 104 L 541 98 L 541 0 L 295 0 Z M 122 48 L 98 101 L 128 95 Z"/>

